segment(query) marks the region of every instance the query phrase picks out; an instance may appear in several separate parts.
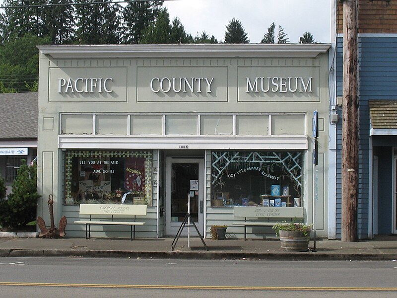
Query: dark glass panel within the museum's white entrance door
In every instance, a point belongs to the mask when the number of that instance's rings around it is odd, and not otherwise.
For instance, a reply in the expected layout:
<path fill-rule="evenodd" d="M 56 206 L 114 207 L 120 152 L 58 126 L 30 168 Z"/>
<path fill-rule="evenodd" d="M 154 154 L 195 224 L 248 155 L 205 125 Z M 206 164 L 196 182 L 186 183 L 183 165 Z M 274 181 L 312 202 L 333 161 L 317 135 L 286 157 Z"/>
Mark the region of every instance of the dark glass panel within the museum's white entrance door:
<path fill-rule="evenodd" d="M 198 163 L 172 163 L 171 174 L 171 222 L 182 222 L 188 209 L 188 195 L 191 192 L 191 180 L 199 180 Z M 190 198 L 190 215 L 198 222 L 199 195 L 194 191 Z"/>

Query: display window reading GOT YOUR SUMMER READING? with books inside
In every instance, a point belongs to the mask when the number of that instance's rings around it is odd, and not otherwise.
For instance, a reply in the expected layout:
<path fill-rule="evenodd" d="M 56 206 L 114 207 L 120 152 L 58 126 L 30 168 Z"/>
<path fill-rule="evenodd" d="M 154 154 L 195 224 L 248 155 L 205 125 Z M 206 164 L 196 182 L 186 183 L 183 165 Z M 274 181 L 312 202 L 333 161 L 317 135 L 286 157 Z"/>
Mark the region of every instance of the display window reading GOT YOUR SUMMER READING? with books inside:
<path fill-rule="evenodd" d="M 211 206 L 302 206 L 302 151 L 212 151 Z"/>

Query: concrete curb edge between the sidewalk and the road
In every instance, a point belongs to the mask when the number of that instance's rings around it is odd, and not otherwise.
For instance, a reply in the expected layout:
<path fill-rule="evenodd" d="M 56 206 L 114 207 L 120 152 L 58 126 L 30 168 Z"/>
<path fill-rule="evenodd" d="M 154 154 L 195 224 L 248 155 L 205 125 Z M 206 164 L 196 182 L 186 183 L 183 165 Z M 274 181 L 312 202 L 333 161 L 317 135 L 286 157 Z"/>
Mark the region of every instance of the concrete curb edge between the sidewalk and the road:
<path fill-rule="evenodd" d="M 241 260 L 316 260 L 316 261 L 391 261 L 396 253 L 229 253 L 196 251 L 119 251 L 70 249 L 0 249 L 0 257 L 102 257 L 102 258 L 158 258 L 158 259 L 241 259 Z"/>

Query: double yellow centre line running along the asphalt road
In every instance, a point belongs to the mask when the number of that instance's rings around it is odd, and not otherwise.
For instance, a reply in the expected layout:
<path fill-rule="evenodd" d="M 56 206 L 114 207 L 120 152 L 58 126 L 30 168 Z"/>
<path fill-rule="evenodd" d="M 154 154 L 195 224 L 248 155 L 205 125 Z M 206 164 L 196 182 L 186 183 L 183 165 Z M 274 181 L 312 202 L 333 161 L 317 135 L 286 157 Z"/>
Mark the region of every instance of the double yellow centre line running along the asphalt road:
<path fill-rule="evenodd" d="M 176 286 L 176 285 L 110 285 L 0 282 L 0 286 L 128 288 L 128 289 L 185 289 L 185 290 L 267 290 L 267 291 L 397 291 L 379 287 L 244 287 L 244 286 Z"/>

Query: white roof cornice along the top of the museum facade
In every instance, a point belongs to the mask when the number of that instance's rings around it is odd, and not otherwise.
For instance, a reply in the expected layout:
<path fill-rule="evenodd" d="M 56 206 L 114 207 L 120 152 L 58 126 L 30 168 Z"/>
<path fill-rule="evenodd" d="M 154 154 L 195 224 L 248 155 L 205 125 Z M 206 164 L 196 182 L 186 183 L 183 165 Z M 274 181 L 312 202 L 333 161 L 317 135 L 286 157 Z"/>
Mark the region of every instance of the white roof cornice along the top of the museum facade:
<path fill-rule="evenodd" d="M 330 44 L 134 44 L 37 46 L 53 58 L 205 58 L 307 57 L 315 58 Z"/>

